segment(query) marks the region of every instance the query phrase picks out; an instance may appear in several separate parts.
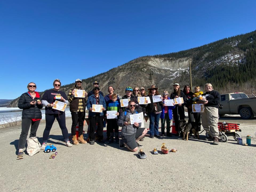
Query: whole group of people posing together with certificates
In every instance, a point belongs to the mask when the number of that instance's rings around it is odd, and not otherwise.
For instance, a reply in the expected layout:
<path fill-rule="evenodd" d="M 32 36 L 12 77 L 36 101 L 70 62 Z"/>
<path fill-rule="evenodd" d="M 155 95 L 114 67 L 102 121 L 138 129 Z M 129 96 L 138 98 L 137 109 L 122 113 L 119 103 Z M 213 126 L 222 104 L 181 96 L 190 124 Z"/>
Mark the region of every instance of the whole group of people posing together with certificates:
<path fill-rule="evenodd" d="M 171 137 L 170 123 L 174 118 L 176 136 L 182 137 L 182 131 L 179 130 L 179 120 L 185 119 L 184 106 L 187 107 L 189 122 L 195 122 L 197 131 L 203 128 L 209 133 L 209 140 L 213 140 L 214 145 L 218 145 L 218 104 L 220 103 L 220 94 L 213 90 L 213 86 L 210 83 L 205 85 L 206 92 L 200 91 L 200 87 L 195 87 L 195 92 L 191 92 L 191 87 L 185 85 L 183 91 L 180 89 L 179 83 L 173 84 L 173 92 L 169 94 L 168 91 L 164 91 L 160 99 L 162 101 L 153 102 L 153 96 L 159 95 L 158 88 L 154 85 L 150 86 L 146 94 L 144 87 L 126 87 L 125 95 L 122 99 L 129 99 L 128 107 L 121 107 L 120 99 L 117 94 L 114 94 L 114 87 L 109 86 L 109 94 L 103 95 L 99 88 L 99 82 L 93 82 L 93 89 L 85 92 L 85 97 L 75 97 L 75 89 L 84 90 L 82 87 L 81 79 L 75 80 L 74 88 L 66 95 L 63 91 L 60 91 L 61 82 L 59 79 L 55 79 L 53 82 L 53 89 L 45 91 L 41 97 L 36 92 L 36 84 L 30 82 L 27 85 L 28 91 L 23 93 L 19 99 L 18 107 L 23 109 L 22 111 L 22 131 L 18 144 L 18 156 L 17 159 L 23 158 L 23 149 L 25 148 L 26 138 L 30 130 L 29 137 L 35 137 L 38 125 L 42 119 L 41 109 L 45 106 L 45 130 L 43 131 L 43 143 L 41 149 L 44 150 L 47 146 L 47 139 L 50 134 L 51 127 L 55 119 L 57 119 L 59 127 L 61 128 L 62 135 L 67 147 L 73 145 L 79 145 L 87 143 L 83 137 L 83 123 L 85 120 L 86 107 L 89 111 L 89 141 L 90 145 L 95 143 L 95 132 L 97 134 L 98 142 L 104 143 L 103 139 L 103 121 L 107 122 L 107 138 L 108 143 L 119 143 L 119 147 L 127 147 L 130 151 L 137 151 L 138 147 L 143 147 L 138 142 L 143 141 L 147 134 L 147 129 L 141 127 L 141 123 L 135 122 L 131 125 L 129 115 L 143 112 L 149 117 L 149 138 L 160 138 L 165 135 L 165 123 L 166 123 L 166 136 Z M 203 113 L 194 113 L 192 111 L 192 104 L 195 103 L 193 98 L 199 95 L 204 95 L 206 101 L 198 101 L 196 103 L 204 104 Z M 146 104 L 140 105 L 138 97 L 149 97 L 150 102 L 146 101 Z M 166 106 L 165 101 L 167 99 L 174 99 L 182 97 L 184 103 L 175 104 L 173 106 Z M 54 102 L 58 100 L 64 103 L 70 103 L 70 111 L 72 117 L 71 136 L 69 141 L 68 130 L 66 127 L 65 111 L 59 111 L 53 109 Z M 93 105 L 102 105 L 102 112 L 93 112 Z M 106 111 L 117 111 L 117 119 L 108 119 Z M 159 134 L 159 120 L 161 119 L 161 134 Z M 201 123 L 202 121 L 202 123 Z M 76 136 L 76 126 L 78 126 L 78 137 Z M 121 139 L 119 139 L 118 127 L 122 127 Z"/>

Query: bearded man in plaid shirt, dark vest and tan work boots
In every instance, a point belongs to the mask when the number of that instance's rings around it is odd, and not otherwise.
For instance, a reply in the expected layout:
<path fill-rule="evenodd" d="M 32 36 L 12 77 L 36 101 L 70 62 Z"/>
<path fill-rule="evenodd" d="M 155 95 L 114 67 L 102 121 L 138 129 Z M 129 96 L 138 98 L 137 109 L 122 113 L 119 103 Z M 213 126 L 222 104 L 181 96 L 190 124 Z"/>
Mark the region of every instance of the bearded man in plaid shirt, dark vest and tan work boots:
<path fill-rule="evenodd" d="M 71 112 L 71 117 L 72 117 L 72 125 L 71 125 L 72 141 L 73 141 L 73 145 L 79 145 L 79 143 L 82 143 L 82 144 L 87 143 L 83 139 L 83 122 L 85 120 L 85 106 L 86 106 L 88 97 L 86 92 L 85 92 L 85 98 L 74 97 L 75 89 L 83 90 L 81 79 L 75 80 L 75 87 L 74 89 L 71 89 L 69 91 L 68 97 L 67 97 L 68 101 L 70 102 L 69 110 Z M 77 122 L 79 122 L 78 138 L 75 135 Z"/>

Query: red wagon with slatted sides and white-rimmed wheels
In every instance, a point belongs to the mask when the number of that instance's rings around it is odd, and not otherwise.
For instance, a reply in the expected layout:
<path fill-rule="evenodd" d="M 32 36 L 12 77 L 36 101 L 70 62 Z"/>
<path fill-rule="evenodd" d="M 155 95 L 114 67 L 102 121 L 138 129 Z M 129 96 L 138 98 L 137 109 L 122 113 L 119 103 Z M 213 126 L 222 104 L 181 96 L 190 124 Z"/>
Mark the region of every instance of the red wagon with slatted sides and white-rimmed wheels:
<path fill-rule="evenodd" d="M 226 123 L 225 121 L 218 122 L 218 129 L 219 129 L 219 137 L 221 138 L 221 141 L 227 142 L 229 139 L 228 137 L 232 137 L 237 141 L 238 137 L 241 137 L 238 131 L 241 132 L 241 129 L 239 129 L 240 124 L 236 123 Z M 206 132 L 206 137 L 209 138 L 209 133 Z"/>

